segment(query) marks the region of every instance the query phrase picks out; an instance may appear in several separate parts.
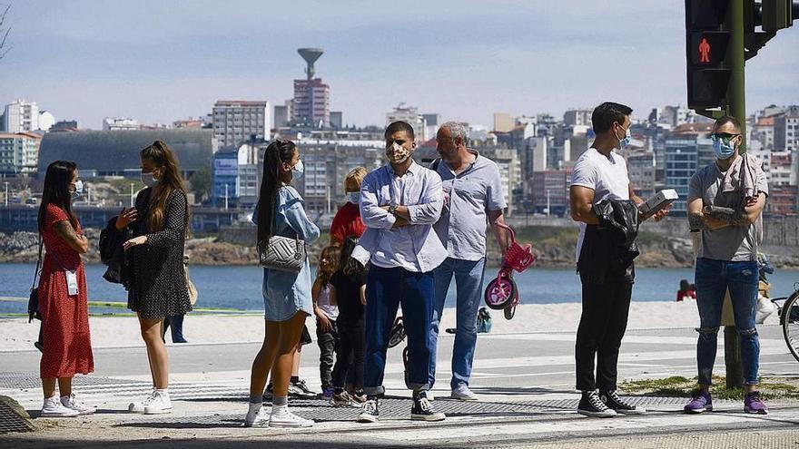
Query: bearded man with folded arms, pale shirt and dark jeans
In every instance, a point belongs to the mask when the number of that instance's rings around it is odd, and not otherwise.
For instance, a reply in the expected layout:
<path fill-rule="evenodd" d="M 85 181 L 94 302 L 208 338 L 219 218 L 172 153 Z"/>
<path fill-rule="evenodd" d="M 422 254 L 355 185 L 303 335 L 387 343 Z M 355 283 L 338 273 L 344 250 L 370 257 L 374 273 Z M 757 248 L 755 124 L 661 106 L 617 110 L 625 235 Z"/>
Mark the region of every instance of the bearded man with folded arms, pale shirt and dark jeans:
<path fill-rule="evenodd" d="M 393 122 L 386 128 L 389 164 L 370 172 L 360 189 L 360 218 L 367 229 L 352 256 L 370 262 L 366 284 L 366 357 L 363 390 L 367 401 L 361 423 L 378 420 L 378 396 L 385 392 L 386 351 L 394 317 L 402 305 L 408 336 L 409 373 L 413 390 L 410 417 L 441 421 L 427 398 L 430 361 L 429 328 L 435 299 L 433 269 L 447 251 L 433 224 L 443 205 L 441 178 L 411 157 L 416 149 L 413 127 Z"/>

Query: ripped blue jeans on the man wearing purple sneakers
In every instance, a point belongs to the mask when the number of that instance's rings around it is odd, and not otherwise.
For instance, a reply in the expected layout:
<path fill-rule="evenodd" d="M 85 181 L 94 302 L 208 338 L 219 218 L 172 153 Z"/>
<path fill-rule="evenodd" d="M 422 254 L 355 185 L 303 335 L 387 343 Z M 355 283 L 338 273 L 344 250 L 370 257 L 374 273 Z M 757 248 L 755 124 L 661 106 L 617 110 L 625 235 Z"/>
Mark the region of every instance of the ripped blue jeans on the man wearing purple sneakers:
<path fill-rule="evenodd" d="M 696 306 L 699 307 L 699 341 L 696 365 L 699 384 L 712 384 L 718 328 L 725 293 L 729 288 L 735 315 L 735 327 L 741 340 L 744 384 L 757 385 L 760 341 L 755 328 L 757 305 L 757 262 L 696 259 Z"/>

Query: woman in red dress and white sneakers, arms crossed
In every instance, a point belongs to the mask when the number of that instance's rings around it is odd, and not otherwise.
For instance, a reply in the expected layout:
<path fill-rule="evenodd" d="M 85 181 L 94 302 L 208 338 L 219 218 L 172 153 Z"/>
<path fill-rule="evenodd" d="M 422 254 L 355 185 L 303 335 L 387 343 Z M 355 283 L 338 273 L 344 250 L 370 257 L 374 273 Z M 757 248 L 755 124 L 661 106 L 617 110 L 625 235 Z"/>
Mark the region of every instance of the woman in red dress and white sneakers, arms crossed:
<path fill-rule="evenodd" d="M 86 415 L 96 410 L 78 401 L 72 392 L 74 375 L 94 371 L 86 275 L 80 256 L 89 249 L 89 242 L 72 211 L 72 199 L 82 190 L 74 162 L 54 161 L 47 167 L 38 218 L 47 251 L 39 279 L 42 416 Z M 61 397 L 55 395 L 56 381 Z"/>

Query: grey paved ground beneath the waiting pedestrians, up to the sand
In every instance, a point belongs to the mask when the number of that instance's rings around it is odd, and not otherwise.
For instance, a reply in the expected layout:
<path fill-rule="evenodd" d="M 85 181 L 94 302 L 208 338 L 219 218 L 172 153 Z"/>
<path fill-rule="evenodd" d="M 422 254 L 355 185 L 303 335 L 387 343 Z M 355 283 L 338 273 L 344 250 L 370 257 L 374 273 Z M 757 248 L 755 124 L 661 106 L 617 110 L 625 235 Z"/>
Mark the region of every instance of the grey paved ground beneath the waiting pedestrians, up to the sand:
<path fill-rule="evenodd" d="M 776 327 L 761 329 L 764 375 L 794 376 L 796 362 Z M 451 337 L 440 342 L 448 360 Z M 694 376 L 692 329 L 630 332 L 622 347 L 624 378 Z M 299 415 L 317 421 L 311 429 L 243 428 L 246 389 L 257 345 L 171 347 L 174 411 L 171 415 L 131 415 L 127 403 L 149 391 L 143 347 L 98 352 L 104 376 L 81 376 L 75 391 L 96 415 L 75 419 L 35 419 L 43 430 L 0 434 L 4 447 L 787 447 L 799 442 L 799 402 L 772 402 L 769 415 L 745 415 L 738 401 L 718 401 L 716 411 L 683 415 L 685 398 L 635 396 L 650 414 L 592 419 L 577 415 L 573 390 L 574 336 L 538 333 L 481 336 L 475 362 L 478 403 L 445 399 L 449 370 L 439 361 L 434 405 L 448 415 L 442 423 L 409 420 L 409 394 L 402 383 L 400 348 L 390 352 L 386 385 L 390 397 L 380 423 L 353 421 L 357 409 L 333 408 L 321 400 L 291 401 Z M 719 351 L 723 355 L 723 350 Z M 0 395 L 10 395 L 35 415 L 41 405 L 35 375 L 36 353 L 4 354 Z M 306 347 L 301 375 L 318 384 L 318 349 Z M 32 369 L 33 367 L 33 369 Z M 101 369 L 102 367 L 102 369 Z M 239 369 L 236 369 L 239 368 Z M 244 368 L 244 369 L 241 369 Z M 718 374 L 724 363 L 719 357 Z M 709 432 L 712 429 L 712 432 Z M 599 441 L 602 440 L 602 441 Z M 607 441 L 606 441 L 607 440 Z M 631 445 L 632 444 L 632 445 Z"/>

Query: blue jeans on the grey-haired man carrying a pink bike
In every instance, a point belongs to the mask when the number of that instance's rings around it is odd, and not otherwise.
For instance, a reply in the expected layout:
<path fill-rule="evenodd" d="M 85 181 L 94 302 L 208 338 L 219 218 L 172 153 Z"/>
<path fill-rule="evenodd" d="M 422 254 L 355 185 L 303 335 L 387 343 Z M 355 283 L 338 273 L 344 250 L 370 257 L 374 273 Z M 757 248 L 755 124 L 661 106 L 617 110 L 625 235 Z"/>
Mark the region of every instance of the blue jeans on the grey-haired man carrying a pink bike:
<path fill-rule="evenodd" d="M 430 323 L 430 368 L 429 383 L 436 383 L 436 351 L 439 342 L 439 323 L 444 311 L 444 302 L 452 276 L 458 292 L 456 302 L 455 347 L 452 349 L 452 379 L 449 386 L 454 390 L 459 386 L 469 386 L 471 366 L 474 361 L 475 345 L 478 342 L 478 308 L 483 298 L 483 275 L 486 259 L 463 260 L 447 258 L 433 270 L 436 277 L 436 306 Z"/>

